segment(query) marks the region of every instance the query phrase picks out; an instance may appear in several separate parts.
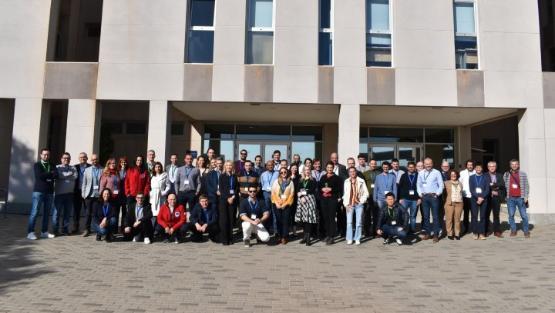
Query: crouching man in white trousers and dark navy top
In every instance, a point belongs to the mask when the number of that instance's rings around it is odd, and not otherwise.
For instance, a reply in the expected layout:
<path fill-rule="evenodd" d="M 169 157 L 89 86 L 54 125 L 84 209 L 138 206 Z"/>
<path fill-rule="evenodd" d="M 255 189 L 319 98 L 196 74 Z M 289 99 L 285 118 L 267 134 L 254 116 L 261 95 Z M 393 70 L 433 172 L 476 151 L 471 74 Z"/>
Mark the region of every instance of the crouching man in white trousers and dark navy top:
<path fill-rule="evenodd" d="M 262 242 L 270 240 L 270 234 L 264 227 L 264 222 L 270 218 L 270 212 L 262 201 L 256 197 L 257 188 L 249 187 L 249 197 L 241 201 L 239 216 L 243 227 L 243 241 L 245 247 L 250 247 L 251 234 L 254 232 Z"/>

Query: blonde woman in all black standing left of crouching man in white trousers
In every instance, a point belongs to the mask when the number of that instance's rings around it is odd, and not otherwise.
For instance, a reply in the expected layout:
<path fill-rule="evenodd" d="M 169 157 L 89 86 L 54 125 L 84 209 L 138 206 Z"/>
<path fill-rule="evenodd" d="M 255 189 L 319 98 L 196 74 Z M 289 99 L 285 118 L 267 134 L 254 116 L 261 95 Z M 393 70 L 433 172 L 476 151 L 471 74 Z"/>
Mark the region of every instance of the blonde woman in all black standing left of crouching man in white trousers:
<path fill-rule="evenodd" d="M 224 173 L 220 175 L 218 186 L 220 242 L 224 246 L 228 246 L 233 243 L 233 226 L 239 203 L 239 183 L 237 176 L 233 173 L 231 161 L 225 162 Z"/>

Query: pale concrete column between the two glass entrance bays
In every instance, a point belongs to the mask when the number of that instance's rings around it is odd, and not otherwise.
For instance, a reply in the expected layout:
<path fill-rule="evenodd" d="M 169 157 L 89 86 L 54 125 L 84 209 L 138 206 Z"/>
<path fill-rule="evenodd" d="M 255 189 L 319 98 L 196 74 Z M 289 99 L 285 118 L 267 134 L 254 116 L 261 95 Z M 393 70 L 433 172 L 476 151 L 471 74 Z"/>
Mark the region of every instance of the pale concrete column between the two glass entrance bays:
<path fill-rule="evenodd" d="M 347 163 L 347 158 L 356 158 L 360 141 L 360 105 L 342 104 L 339 109 L 337 153 L 339 162 Z"/>

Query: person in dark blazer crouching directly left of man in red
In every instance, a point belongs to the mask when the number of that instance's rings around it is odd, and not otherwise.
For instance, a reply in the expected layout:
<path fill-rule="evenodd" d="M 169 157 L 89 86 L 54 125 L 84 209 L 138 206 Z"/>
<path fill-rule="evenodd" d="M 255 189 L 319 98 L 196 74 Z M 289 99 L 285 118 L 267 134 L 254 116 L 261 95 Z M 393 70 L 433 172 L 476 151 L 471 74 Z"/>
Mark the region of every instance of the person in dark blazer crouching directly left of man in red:
<path fill-rule="evenodd" d="M 152 210 L 150 204 L 144 203 L 144 198 L 143 194 L 137 194 L 135 204 L 127 209 L 123 236 L 127 241 L 143 240 L 145 244 L 150 244 L 152 240 Z"/>

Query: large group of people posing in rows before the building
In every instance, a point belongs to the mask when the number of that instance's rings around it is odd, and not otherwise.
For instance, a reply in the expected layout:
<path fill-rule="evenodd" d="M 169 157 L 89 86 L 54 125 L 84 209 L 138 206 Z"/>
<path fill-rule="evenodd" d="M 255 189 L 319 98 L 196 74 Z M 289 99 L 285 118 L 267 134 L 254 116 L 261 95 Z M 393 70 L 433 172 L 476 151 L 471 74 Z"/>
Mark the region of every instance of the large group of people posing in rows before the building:
<path fill-rule="evenodd" d="M 502 201 L 508 206 L 510 236 L 517 234 L 518 209 L 524 236 L 530 237 L 529 185 L 518 160 L 511 160 L 510 170 L 501 174 L 494 161 L 484 168 L 469 160 L 458 172 L 446 161 L 434 169 L 431 158 L 408 162 L 404 169 L 396 159 L 378 167 L 364 154 L 348 158 L 346 166 L 337 153 L 329 159 L 325 164 L 310 158 L 301 162 L 296 154 L 289 162 L 276 150 L 263 164 L 261 156 L 253 162 L 242 150 L 239 160 L 225 161 L 209 148 L 196 159 L 186 153 L 181 166 L 173 154 L 164 167 L 149 150 L 146 160 L 137 156 L 133 166 L 123 157 L 108 159 L 102 168 L 96 154 L 89 163 L 87 154 L 80 153 L 79 163 L 71 165 L 67 152 L 55 166 L 50 151 L 42 149 L 34 165 L 27 238 L 37 239 L 35 222 L 42 206 L 41 238 L 78 234 L 84 209 L 83 236 L 94 231 L 96 240 L 106 242 L 121 233 L 124 240 L 145 244 L 208 237 L 229 245 L 239 236 L 245 246 L 253 236 L 287 244 L 300 228 L 299 242 L 306 245 L 315 239 L 331 245 L 338 235 L 349 245 L 359 245 L 363 235 L 399 245 L 411 238 L 435 243 L 442 234 L 459 240 L 472 233 L 478 240 L 491 233 L 502 237 Z"/>

